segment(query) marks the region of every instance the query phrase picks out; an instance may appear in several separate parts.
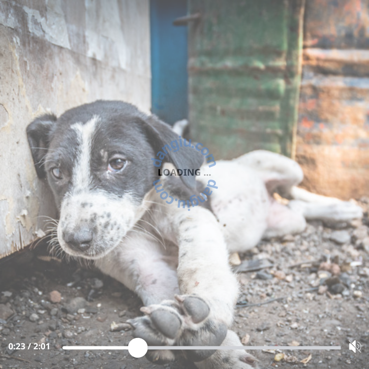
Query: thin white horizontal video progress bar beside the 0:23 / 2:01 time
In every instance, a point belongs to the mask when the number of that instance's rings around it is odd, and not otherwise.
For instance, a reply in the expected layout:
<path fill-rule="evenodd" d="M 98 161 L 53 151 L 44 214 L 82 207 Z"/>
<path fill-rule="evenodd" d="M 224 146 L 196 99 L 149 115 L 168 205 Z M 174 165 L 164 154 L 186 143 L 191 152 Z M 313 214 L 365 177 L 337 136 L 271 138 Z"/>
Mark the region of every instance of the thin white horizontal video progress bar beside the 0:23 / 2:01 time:
<path fill-rule="evenodd" d="M 128 350 L 128 346 L 63 346 L 63 350 Z M 148 350 L 340 350 L 341 346 L 148 346 Z"/>

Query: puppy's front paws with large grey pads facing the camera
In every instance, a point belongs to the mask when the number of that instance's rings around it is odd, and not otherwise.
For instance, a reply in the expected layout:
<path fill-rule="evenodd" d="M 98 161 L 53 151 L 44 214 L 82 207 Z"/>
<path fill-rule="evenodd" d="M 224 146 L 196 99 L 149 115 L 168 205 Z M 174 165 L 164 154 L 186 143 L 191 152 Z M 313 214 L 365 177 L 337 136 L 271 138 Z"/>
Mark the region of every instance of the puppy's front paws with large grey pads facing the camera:
<path fill-rule="evenodd" d="M 219 346 L 227 335 L 227 326 L 211 317 L 209 305 L 194 295 L 176 296 L 176 301 L 142 307 L 144 316 L 132 319 L 133 335 L 149 346 Z M 184 356 L 194 362 L 202 361 L 215 350 L 184 350 Z M 163 363 L 174 360 L 173 351 L 151 350 L 147 357 Z"/>

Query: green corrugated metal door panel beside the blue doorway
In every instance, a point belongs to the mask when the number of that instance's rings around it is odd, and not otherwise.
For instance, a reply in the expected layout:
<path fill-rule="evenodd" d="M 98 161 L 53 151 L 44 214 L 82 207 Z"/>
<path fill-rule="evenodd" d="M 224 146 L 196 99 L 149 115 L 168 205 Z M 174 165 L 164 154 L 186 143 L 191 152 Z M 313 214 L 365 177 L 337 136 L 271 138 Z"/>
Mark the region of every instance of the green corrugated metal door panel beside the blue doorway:
<path fill-rule="evenodd" d="M 304 0 L 189 0 L 191 135 L 217 158 L 293 156 Z"/>

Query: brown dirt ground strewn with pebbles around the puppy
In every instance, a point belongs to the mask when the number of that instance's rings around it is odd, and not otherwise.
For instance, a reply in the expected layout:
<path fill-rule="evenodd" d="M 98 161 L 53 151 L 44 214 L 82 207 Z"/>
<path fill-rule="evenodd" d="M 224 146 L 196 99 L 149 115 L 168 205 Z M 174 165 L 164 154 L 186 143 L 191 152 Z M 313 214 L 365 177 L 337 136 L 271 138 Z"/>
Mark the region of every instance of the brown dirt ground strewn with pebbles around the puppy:
<path fill-rule="evenodd" d="M 368 202 L 360 203 L 362 223 L 336 229 L 310 223 L 301 235 L 263 241 L 241 255 L 241 269 L 250 260 L 266 267 L 238 274 L 242 293 L 233 329 L 245 345 L 341 346 L 282 350 L 279 362 L 279 351 L 252 351 L 260 368 L 369 368 Z M 92 268 L 47 256 L 42 245 L 0 264 L 0 291 L 0 369 L 195 368 L 184 360 L 154 365 L 127 351 L 64 351 L 63 345 L 127 345 L 130 331 L 112 332 L 111 324 L 139 315 L 141 302 Z M 354 339 L 361 353 L 348 350 Z M 9 343 L 25 343 L 25 349 Z"/>

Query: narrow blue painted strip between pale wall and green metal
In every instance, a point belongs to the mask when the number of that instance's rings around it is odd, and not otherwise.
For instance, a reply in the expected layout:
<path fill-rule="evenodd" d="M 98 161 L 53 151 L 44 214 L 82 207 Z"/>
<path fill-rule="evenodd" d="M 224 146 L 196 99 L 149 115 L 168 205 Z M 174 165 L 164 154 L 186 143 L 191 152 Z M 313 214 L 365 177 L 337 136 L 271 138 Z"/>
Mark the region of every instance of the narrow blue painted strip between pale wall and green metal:
<path fill-rule="evenodd" d="M 166 123 L 187 118 L 187 0 L 151 0 L 152 112 Z"/>

